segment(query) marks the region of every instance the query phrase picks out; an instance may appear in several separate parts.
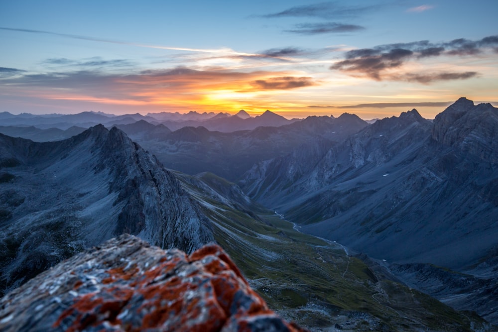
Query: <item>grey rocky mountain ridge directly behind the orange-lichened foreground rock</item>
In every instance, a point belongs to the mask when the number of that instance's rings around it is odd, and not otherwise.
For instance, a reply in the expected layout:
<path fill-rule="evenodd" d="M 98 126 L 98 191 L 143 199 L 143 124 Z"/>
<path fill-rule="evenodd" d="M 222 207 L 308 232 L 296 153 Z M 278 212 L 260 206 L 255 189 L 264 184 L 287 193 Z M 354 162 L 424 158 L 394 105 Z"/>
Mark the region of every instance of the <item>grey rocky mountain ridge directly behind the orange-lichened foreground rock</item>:
<path fill-rule="evenodd" d="M 0 289 L 124 232 L 192 252 L 209 220 L 157 159 L 121 130 L 36 143 L 0 134 Z"/>

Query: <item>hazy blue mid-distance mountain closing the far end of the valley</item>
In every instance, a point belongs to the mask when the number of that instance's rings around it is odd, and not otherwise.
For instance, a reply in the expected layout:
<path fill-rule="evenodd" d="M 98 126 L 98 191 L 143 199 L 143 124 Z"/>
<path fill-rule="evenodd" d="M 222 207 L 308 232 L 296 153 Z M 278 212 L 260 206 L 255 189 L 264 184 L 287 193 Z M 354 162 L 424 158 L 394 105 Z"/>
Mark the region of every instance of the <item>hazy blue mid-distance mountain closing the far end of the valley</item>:
<path fill-rule="evenodd" d="M 272 116 L 271 114 L 265 116 Z M 226 120 L 247 121 L 237 116 Z M 257 127 L 236 132 L 210 131 L 206 127 L 183 127 L 163 139 L 134 135 L 122 128 L 167 168 L 194 175 L 212 172 L 235 181 L 255 163 L 291 152 L 315 140 L 336 142 L 367 126 L 356 115 L 338 118 L 310 116 L 279 127 Z"/>

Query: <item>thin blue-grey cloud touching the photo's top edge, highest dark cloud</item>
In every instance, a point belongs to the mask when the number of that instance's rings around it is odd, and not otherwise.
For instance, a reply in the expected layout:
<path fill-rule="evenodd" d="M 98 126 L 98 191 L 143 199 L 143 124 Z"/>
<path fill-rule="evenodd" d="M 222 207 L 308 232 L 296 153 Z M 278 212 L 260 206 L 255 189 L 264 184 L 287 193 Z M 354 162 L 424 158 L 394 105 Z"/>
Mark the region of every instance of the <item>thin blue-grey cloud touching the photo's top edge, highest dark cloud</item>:
<path fill-rule="evenodd" d="M 263 15 L 267 18 L 275 17 L 319 17 L 338 19 L 355 17 L 364 12 L 377 9 L 379 6 L 344 6 L 338 2 L 321 2 L 291 7 L 276 13 Z"/>

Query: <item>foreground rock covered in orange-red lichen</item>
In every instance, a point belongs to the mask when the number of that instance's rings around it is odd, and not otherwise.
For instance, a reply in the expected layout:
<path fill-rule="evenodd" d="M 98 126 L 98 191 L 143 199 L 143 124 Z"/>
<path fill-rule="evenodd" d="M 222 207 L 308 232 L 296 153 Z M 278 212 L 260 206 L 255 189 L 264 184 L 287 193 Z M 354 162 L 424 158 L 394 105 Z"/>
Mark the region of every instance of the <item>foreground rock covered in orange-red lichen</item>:
<path fill-rule="evenodd" d="M 219 246 L 187 256 L 130 235 L 7 294 L 0 330 L 304 331 L 270 311 Z"/>

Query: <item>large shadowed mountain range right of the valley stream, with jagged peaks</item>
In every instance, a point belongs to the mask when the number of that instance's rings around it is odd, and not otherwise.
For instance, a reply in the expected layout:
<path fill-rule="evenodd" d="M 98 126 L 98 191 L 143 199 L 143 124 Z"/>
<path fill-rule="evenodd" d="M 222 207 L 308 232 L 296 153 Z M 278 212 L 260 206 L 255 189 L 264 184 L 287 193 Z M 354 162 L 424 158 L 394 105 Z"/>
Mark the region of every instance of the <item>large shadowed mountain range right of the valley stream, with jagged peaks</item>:
<path fill-rule="evenodd" d="M 469 279 L 465 294 L 472 310 L 496 322 L 497 310 L 487 308 L 480 285 L 493 289 L 497 282 L 498 262 L 490 258 L 498 244 L 497 115 L 491 105 L 467 99 L 433 122 L 415 110 L 403 112 L 325 153 L 296 150 L 260 163 L 241 184 L 305 232 L 390 263 L 430 263 L 479 278 Z M 463 296 L 461 287 L 449 283 L 444 294 L 433 293 L 420 280 L 436 283 L 438 274 L 415 277 L 406 269 L 395 270 L 411 285 L 469 309 L 453 301 Z"/>

